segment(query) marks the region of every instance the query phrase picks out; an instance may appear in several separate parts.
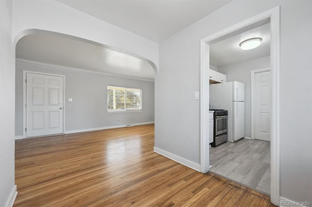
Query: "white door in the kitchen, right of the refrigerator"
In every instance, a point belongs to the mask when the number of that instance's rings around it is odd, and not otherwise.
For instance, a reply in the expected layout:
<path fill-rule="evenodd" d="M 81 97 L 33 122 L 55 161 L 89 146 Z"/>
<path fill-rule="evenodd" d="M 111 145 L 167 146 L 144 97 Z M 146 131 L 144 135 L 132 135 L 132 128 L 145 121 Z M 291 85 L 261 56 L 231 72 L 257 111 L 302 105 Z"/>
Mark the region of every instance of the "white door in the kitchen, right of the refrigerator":
<path fill-rule="evenodd" d="M 254 75 L 254 138 L 270 141 L 271 72 Z"/>

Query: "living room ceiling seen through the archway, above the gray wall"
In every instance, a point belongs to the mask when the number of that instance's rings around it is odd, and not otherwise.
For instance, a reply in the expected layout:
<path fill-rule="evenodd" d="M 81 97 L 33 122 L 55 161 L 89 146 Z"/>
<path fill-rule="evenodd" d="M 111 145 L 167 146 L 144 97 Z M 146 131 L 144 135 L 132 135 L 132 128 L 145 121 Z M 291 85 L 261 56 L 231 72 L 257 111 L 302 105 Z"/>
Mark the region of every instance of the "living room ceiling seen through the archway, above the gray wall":
<path fill-rule="evenodd" d="M 154 69 L 144 60 L 58 35 L 22 37 L 16 46 L 16 58 L 61 68 L 154 81 Z"/>

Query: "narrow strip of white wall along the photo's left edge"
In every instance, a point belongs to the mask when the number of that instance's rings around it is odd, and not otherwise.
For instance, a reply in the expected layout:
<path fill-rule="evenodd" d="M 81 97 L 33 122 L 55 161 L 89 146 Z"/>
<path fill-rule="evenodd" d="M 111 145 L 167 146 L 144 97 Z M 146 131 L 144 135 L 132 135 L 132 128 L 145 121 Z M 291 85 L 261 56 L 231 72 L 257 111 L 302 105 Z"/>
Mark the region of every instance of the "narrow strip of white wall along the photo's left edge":
<path fill-rule="evenodd" d="M 12 0 L 0 1 L 0 207 L 8 205 L 14 188 L 14 59 Z"/>

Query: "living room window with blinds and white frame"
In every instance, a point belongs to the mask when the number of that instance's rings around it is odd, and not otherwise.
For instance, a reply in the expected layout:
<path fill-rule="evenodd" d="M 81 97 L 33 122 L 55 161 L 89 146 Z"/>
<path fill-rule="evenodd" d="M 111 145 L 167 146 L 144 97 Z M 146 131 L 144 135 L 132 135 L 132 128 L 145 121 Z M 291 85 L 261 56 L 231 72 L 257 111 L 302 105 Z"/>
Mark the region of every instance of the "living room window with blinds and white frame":
<path fill-rule="evenodd" d="M 142 109 L 142 89 L 107 86 L 107 111 Z"/>

